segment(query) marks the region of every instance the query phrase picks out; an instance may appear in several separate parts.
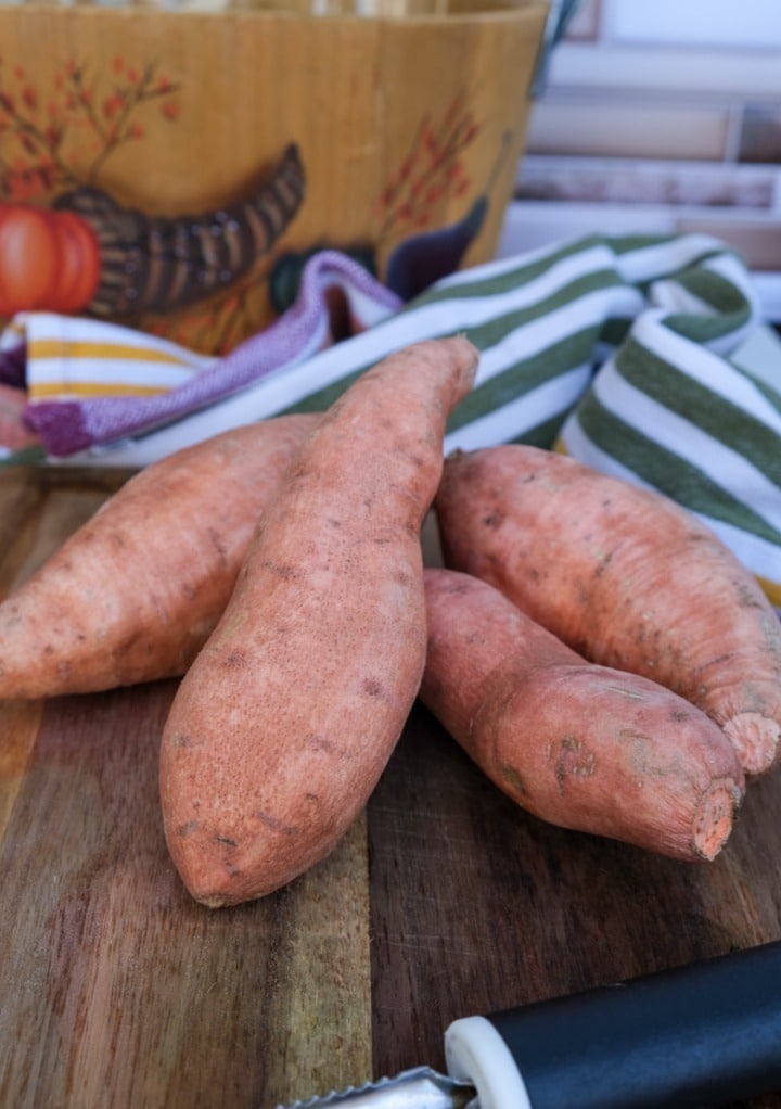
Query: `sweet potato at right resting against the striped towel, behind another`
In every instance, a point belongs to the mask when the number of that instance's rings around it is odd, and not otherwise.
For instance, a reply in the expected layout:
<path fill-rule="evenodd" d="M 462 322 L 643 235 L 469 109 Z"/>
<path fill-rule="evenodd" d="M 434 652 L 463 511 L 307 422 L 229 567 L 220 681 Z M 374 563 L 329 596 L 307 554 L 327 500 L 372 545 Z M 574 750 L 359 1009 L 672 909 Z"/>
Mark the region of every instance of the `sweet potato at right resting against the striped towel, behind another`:
<path fill-rule="evenodd" d="M 484 579 L 593 662 L 654 679 L 719 724 L 747 774 L 781 736 L 781 623 L 750 572 L 661 494 L 508 445 L 453 454 L 445 563 Z"/>

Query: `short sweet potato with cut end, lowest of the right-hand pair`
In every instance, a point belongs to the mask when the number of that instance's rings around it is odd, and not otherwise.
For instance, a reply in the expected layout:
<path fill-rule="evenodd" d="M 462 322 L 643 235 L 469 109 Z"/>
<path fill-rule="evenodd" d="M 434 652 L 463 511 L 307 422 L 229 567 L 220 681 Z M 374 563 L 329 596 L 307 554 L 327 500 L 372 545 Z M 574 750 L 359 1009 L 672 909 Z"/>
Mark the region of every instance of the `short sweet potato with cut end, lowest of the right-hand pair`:
<path fill-rule="evenodd" d="M 712 859 L 742 800 L 723 732 L 667 689 L 588 663 L 470 574 L 424 573 L 424 704 L 518 805 L 562 827 Z"/>

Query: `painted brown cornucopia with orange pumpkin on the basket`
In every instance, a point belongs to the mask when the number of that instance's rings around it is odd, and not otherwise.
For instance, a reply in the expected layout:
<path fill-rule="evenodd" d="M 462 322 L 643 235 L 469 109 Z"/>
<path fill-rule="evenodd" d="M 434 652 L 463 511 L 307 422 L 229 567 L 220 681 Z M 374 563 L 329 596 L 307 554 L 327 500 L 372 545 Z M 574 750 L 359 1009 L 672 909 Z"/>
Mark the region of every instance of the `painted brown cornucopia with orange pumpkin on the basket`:
<path fill-rule="evenodd" d="M 304 164 L 290 143 L 248 199 L 174 217 L 80 187 L 47 208 L 0 202 L 0 315 L 44 309 L 122 319 L 227 288 L 298 212 Z"/>

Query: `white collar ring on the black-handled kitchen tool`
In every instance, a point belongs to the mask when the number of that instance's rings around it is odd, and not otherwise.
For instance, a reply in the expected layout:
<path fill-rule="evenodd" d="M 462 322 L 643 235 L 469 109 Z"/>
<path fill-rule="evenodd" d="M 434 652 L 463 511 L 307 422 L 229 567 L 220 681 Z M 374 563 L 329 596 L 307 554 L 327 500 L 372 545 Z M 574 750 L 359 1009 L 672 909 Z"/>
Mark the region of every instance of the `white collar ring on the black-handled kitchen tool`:
<path fill-rule="evenodd" d="M 510 1048 L 485 1017 L 462 1017 L 444 1034 L 451 1078 L 466 1079 L 477 1091 L 480 1109 L 533 1109 Z"/>

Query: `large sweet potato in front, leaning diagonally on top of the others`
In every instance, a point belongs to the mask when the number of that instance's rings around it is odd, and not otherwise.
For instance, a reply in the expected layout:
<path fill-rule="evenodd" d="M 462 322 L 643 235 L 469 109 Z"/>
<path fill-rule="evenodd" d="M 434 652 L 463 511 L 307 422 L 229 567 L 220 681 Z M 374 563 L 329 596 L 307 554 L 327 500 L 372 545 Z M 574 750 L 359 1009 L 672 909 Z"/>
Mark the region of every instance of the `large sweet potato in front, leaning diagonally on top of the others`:
<path fill-rule="evenodd" d="M 197 901 L 286 885 L 330 853 L 384 769 L 425 662 L 420 528 L 475 369 L 455 338 L 361 375 L 266 513 L 163 733 L 165 834 Z"/>

